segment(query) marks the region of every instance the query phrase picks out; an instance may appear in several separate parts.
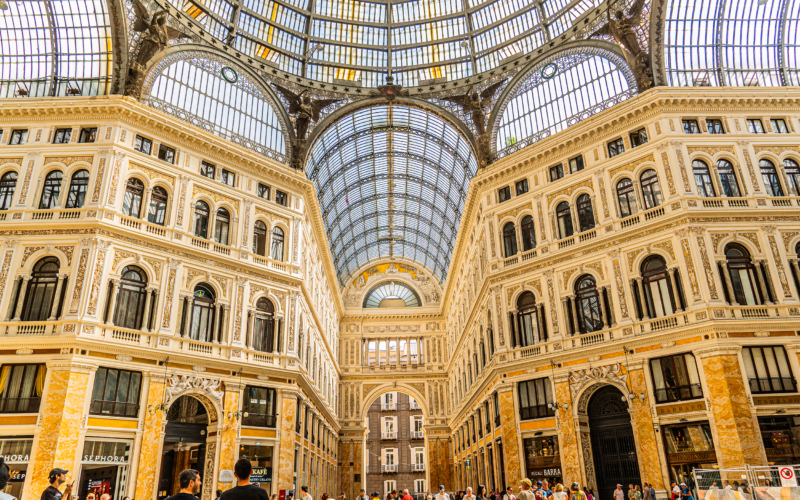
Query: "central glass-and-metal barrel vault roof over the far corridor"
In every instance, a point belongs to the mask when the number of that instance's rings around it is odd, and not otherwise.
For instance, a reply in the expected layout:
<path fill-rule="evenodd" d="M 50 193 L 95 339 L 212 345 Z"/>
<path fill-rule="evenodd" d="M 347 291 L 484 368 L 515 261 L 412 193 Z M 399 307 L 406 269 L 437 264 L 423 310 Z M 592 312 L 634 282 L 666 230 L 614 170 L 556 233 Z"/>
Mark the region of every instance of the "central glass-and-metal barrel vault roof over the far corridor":
<path fill-rule="evenodd" d="M 477 168 L 467 139 L 422 109 L 373 106 L 331 124 L 312 145 L 306 173 L 339 279 L 397 256 L 444 282 Z"/>

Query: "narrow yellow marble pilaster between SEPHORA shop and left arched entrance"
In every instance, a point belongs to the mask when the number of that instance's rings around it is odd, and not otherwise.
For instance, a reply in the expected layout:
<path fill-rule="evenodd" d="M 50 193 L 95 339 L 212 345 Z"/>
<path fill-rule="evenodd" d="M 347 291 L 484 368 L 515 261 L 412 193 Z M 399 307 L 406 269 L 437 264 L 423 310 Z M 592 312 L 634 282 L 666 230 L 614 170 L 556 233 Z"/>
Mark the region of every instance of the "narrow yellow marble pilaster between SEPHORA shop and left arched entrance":
<path fill-rule="evenodd" d="M 150 388 L 147 391 L 147 408 L 144 412 L 144 426 L 142 430 L 142 448 L 139 453 L 139 472 L 136 476 L 136 494 L 138 500 L 152 500 L 155 498 L 156 482 L 159 477 L 158 467 L 161 463 L 161 444 L 166 424 L 166 415 L 157 408 L 164 400 L 164 378 L 150 378 Z M 154 410 L 151 412 L 150 408 Z"/>

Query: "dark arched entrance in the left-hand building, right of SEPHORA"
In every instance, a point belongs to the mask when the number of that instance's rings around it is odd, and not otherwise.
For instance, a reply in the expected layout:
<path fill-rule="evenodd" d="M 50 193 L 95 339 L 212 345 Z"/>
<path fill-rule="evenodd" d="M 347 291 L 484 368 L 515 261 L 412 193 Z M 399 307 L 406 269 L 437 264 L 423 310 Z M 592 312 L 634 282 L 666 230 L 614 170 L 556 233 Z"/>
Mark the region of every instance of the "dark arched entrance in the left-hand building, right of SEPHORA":
<path fill-rule="evenodd" d="M 198 470 L 203 482 L 206 481 L 203 464 L 206 462 L 209 424 L 205 406 L 192 396 L 181 396 L 169 407 L 167 427 L 164 431 L 158 500 L 174 495 L 180 490 L 178 476 L 183 470 Z M 209 477 L 208 480 L 213 479 Z"/>

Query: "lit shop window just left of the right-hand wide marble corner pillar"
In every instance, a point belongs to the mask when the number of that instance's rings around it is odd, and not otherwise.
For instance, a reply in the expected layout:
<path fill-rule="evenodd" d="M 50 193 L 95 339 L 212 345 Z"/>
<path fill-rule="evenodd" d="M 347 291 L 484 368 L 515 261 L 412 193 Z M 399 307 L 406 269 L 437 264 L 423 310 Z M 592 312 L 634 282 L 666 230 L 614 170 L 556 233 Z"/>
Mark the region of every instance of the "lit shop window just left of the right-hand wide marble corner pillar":
<path fill-rule="evenodd" d="M 695 489 L 692 469 L 718 469 L 714 440 L 708 422 L 661 427 L 670 481 Z"/>

